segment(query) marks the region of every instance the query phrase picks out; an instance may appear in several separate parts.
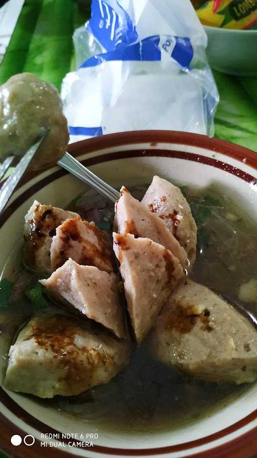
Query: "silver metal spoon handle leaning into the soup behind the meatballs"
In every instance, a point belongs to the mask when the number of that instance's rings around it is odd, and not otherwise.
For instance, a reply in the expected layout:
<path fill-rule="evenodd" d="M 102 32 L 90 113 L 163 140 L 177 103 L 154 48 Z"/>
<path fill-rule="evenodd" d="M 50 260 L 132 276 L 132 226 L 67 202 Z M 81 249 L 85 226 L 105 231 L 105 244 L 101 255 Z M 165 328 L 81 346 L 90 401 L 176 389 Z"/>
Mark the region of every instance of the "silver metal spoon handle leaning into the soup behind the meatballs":
<path fill-rule="evenodd" d="M 109 186 L 105 181 L 98 178 L 94 173 L 90 172 L 85 166 L 80 164 L 73 156 L 68 152 L 65 152 L 60 161 L 57 163 L 60 167 L 70 172 L 75 177 L 88 184 L 91 188 L 94 188 L 103 196 L 115 203 L 119 199 L 119 192 L 116 189 Z"/>

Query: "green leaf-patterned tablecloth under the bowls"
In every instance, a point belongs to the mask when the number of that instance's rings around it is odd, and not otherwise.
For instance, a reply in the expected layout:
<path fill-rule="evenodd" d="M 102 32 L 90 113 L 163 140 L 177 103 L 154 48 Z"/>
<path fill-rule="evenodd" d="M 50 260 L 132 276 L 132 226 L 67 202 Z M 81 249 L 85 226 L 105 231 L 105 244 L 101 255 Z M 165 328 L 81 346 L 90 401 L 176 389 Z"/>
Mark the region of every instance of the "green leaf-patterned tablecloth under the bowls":
<path fill-rule="evenodd" d="M 0 85 L 15 73 L 31 71 L 60 89 L 75 67 L 73 31 L 88 16 L 72 0 L 26 0 L 0 66 Z M 215 136 L 257 151 L 257 77 L 213 73 L 220 94 Z"/>

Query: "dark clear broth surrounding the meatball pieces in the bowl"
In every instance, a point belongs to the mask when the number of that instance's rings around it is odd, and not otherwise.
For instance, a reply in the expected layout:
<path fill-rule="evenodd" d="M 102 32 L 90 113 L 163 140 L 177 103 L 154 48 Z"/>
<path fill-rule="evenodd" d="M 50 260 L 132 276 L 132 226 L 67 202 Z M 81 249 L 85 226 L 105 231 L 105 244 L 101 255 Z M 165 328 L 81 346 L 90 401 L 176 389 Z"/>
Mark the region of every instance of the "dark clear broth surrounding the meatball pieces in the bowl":
<path fill-rule="evenodd" d="M 139 199 L 145 190 L 142 186 L 131 188 Z M 198 256 L 191 277 L 237 298 L 240 284 L 254 275 L 257 278 L 257 256 L 253 255 L 257 253 L 254 222 L 214 188 L 201 191 L 182 188 L 182 191 L 198 223 Z M 73 200 L 68 208 L 111 232 L 113 205 L 94 191 Z M 15 276 L 20 284 L 12 310 L 16 307 L 21 316 L 31 314 L 23 291 L 28 281 L 35 277 L 23 268 Z M 247 307 L 256 313 L 256 302 Z M 49 308 L 53 310 L 51 303 Z M 6 358 L 6 354 L 3 356 Z M 90 421 L 96 429 L 136 433 L 171 430 L 210 416 L 248 388 L 249 385 L 214 384 L 183 376 L 176 369 L 154 360 L 145 343 L 136 349 L 129 366 L 107 385 L 79 396 L 36 401 L 55 406 L 71 417 L 76 415 L 85 422 Z"/>

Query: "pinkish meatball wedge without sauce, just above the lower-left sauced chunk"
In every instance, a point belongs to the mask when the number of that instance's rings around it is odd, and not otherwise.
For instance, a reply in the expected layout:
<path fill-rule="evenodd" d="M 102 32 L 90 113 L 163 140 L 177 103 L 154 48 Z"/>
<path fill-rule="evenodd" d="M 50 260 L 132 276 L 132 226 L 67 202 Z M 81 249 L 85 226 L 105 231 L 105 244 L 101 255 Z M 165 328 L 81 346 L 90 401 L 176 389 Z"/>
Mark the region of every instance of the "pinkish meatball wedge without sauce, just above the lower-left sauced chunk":
<path fill-rule="evenodd" d="M 47 280 L 40 280 L 70 311 L 80 312 L 125 338 L 126 329 L 118 279 L 97 267 L 68 259 Z"/>

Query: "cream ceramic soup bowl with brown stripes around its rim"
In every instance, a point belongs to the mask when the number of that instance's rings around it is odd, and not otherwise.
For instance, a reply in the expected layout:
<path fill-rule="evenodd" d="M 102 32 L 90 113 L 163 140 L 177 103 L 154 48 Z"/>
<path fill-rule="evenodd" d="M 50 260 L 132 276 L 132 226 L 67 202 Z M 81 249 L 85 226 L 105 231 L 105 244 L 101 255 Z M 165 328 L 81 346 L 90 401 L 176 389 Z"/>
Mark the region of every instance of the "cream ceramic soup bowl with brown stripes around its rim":
<path fill-rule="evenodd" d="M 69 151 L 110 184 L 149 183 L 154 174 L 198 187 L 218 183 L 224 193 L 257 219 L 257 155 L 241 146 L 190 133 L 142 131 L 84 140 L 71 144 Z M 83 183 L 58 167 L 25 182 L 0 218 L 0 271 L 7 259 L 15 263 L 24 215 L 34 199 L 64 207 L 85 189 Z M 3 346 L 0 350 L 1 354 L 8 351 Z M 5 364 L 1 358 L 2 377 Z M 175 431 L 132 434 L 101 429 L 98 438 L 92 439 L 94 446 L 87 448 L 83 445 L 85 434 L 95 432 L 90 420 L 70 417 L 35 397 L 1 388 L 0 448 L 17 458 L 249 458 L 257 453 L 256 405 L 257 384 L 222 410 Z M 62 436 L 69 433 L 81 437 L 81 446 L 74 447 L 69 438 Z M 11 443 L 15 434 L 21 437 L 19 446 Z M 42 434 L 56 436 L 47 439 Z M 59 446 L 51 447 L 50 441 Z"/>

